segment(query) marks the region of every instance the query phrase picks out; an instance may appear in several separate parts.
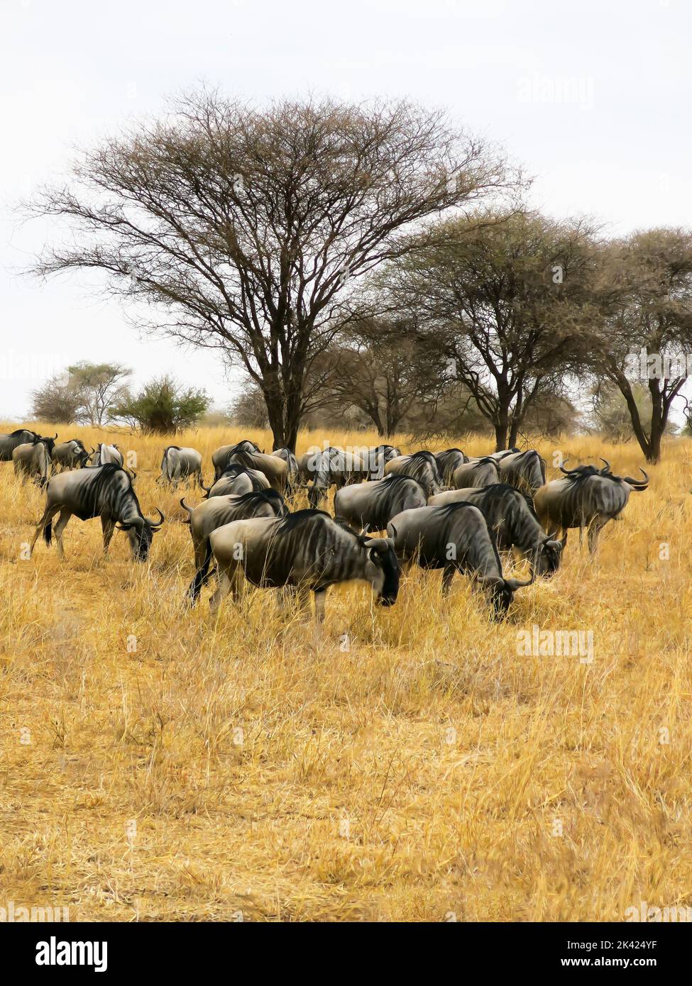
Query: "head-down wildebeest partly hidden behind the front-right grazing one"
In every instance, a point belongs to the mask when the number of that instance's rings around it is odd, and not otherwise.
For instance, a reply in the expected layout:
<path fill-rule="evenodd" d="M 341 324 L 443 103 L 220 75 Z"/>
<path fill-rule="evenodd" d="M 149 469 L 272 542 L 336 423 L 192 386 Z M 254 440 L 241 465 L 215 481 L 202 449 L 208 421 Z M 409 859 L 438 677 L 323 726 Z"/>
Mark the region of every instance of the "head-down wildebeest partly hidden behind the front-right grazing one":
<path fill-rule="evenodd" d="M 538 523 L 531 498 L 507 483 L 494 483 L 481 489 L 450 490 L 430 497 L 429 507 L 448 503 L 472 503 L 483 513 L 500 550 L 514 548 L 528 559 L 535 575 L 552 575 L 562 559 L 565 541 L 546 534 Z"/>

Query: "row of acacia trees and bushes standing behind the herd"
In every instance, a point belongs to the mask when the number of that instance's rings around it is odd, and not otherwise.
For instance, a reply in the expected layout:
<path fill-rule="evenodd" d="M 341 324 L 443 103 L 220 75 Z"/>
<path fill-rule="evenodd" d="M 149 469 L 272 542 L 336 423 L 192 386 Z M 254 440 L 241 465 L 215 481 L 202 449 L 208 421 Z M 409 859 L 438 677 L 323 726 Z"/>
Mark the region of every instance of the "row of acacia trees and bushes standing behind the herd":
<path fill-rule="evenodd" d="M 692 350 L 688 230 L 613 240 L 531 210 L 497 150 L 409 103 L 201 91 L 170 110 L 38 193 L 31 211 L 76 235 L 36 269 L 98 268 L 145 328 L 218 349 L 248 380 L 238 420 L 290 448 L 301 424 L 348 415 L 383 437 L 481 429 L 500 449 L 590 394 L 594 420 L 625 420 L 660 458 L 687 374 L 646 364 Z M 159 427 L 151 398 L 114 403 Z"/>

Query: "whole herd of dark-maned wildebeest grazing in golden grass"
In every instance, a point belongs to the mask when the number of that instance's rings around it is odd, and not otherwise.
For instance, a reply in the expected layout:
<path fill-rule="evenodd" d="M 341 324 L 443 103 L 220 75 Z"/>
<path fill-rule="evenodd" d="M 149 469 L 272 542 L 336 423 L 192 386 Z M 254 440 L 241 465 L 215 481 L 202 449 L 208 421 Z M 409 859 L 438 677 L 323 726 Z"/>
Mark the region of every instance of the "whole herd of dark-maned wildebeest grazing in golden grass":
<path fill-rule="evenodd" d="M 88 451 L 78 439 L 56 440 L 57 434 L 46 438 L 27 429 L 0 435 L 0 461 L 12 460 L 18 477 L 45 491 L 31 549 L 41 533 L 50 545 L 54 533 L 62 558 L 63 531 L 74 515 L 101 519 L 104 552 L 115 528 L 126 531 L 133 558 L 145 561 L 165 517 L 158 509 L 156 519 L 142 513 L 136 473 L 123 467 L 117 446 Z M 563 463 L 564 475 L 547 481 L 545 459 L 535 450 L 403 456 L 380 445 L 314 449 L 296 458 L 288 449 L 266 454 L 244 440 L 214 452 L 209 486 L 200 453 L 168 446 L 157 482 L 175 487 L 193 479 L 205 492 L 197 506 L 181 500 L 192 534 L 191 604 L 215 570 L 212 611 L 229 593 L 239 599 L 247 581 L 278 589 L 300 607 L 312 592 L 321 621 L 330 586 L 364 582 L 377 602 L 392 605 L 402 571 L 417 564 L 442 570 L 443 593 L 455 572 L 470 576 L 500 614 L 517 589 L 558 570 L 570 528 L 580 535 L 586 529 L 595 552 L 599 530 L 622 513 L 631 491 L 647 489 L 643 469 L 643 479 L 621 477 L 602 461 L 600 468 Z M 334 517 L 318 509 L 332 486 Z M 301 489 L 309 507 L 291 510 Z M 525 559 L 530 578 L 505 578 L 500 550 Z"/>

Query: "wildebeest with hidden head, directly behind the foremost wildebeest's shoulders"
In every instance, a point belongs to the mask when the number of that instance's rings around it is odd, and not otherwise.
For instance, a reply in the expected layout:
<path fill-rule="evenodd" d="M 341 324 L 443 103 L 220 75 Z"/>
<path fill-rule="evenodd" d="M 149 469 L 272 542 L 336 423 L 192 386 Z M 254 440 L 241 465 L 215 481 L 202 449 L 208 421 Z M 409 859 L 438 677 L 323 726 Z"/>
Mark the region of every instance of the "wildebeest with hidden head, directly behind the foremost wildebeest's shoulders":
<path fill-rule="evenodd" d="M 397 514 L 424 507 L 425 501 L 425 491 L 417 479 L 395 473 L 337 490 L 334 514 L 358 530 L 384 530 Z"/>

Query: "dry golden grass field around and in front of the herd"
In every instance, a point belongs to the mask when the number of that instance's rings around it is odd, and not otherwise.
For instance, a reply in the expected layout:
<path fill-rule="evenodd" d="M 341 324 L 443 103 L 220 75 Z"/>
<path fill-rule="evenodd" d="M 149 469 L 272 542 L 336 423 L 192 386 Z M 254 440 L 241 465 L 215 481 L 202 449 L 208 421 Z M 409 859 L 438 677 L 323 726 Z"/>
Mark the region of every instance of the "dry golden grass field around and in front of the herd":
<path fill-rule="evenodd" d="M 204 454 L 208 481 L 210 453 L 241 437 L 178 442 Z M 0 905 L 66 905 L 71 921 L 623 920 L 640 901 L 692 905 L 689 442 L 669 441 L 595 562 L 573 531 L 561 571 L 520 590 L 505 621 L 465 581 L 442 599 L 439 572 L 414 572 L 391 609 L 333 590 L 320 639 L 269 592 L 243 611 L 227 600 L 214 622 L 204 590 L 189 611 L 184 490 L 154 482 L 165 443 L 115 440 L 136 450 L 143 511 L 168 519 L 146 565 L 117 532 L 104 561 L 99 522 L 75 519 L 63 564 L 42 540 L 23 559 L 43 497 L 0 464 Z M 635 445 L 555 445 L 620 474 L 643 464 Z M 537 447 L 550 462 L 553 445 Z M 593 661 L 520 653 L 534 625 L 591 631 Z"/>

